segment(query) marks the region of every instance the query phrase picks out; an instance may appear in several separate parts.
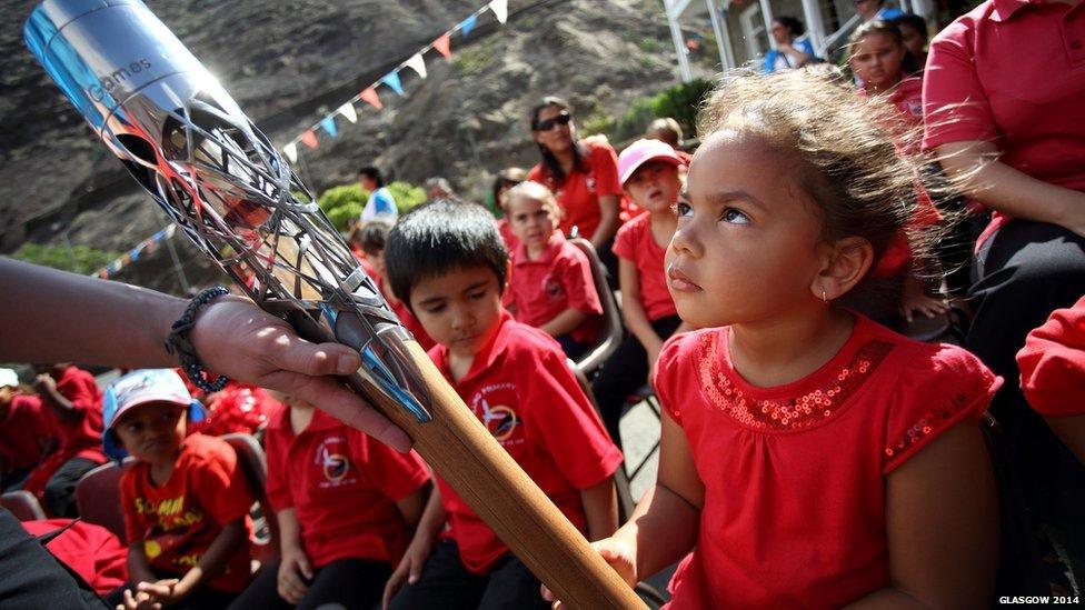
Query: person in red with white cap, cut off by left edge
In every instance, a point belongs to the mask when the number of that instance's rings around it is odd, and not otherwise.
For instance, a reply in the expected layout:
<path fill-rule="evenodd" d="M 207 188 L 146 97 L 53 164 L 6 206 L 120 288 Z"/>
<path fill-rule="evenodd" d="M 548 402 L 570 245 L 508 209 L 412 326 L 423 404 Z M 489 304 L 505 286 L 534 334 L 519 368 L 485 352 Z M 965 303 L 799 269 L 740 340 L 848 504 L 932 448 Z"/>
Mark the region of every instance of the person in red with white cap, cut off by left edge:
<path fill-rule="evenodd" d="M 20 489 L 56 439 L 41 399 L 23 393 L 11 369 L 0 369 L 0 490 Z"/>

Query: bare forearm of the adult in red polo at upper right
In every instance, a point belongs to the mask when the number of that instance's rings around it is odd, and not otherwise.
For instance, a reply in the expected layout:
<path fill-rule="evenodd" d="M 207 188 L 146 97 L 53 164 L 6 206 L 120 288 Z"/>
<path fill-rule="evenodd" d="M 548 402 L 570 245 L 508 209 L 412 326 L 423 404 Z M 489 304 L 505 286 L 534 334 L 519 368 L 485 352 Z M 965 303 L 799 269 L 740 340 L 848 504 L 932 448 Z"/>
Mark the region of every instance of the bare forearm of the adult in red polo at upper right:
<path fill-rule="evenodd" d="M 1085 192 L 1037 180 L 1003 163 L 993 142 L 949 142 L 935 152 L 966 196 L 1014 218 L 1049 222 L 1085 236 Z"/>

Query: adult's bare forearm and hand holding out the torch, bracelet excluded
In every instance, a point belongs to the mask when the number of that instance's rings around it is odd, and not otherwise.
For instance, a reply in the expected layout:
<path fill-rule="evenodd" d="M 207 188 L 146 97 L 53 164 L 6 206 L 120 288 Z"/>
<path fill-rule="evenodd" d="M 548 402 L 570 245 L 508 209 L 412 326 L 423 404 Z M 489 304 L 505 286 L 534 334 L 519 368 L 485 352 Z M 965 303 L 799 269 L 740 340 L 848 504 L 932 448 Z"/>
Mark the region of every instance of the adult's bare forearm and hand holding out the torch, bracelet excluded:
<path fill-rule="evenodd" d="M 118 282 L 0 258 L 0 361 L 176 367 L 163 344 L 187 301 Z M 313 344 L 248 299 L 221 297 L 200 310 L 190 338 L 208 370 L 290 393 L 400 451 L 407 434 L 332 374 L 361 366 L 339 343 Z"/>

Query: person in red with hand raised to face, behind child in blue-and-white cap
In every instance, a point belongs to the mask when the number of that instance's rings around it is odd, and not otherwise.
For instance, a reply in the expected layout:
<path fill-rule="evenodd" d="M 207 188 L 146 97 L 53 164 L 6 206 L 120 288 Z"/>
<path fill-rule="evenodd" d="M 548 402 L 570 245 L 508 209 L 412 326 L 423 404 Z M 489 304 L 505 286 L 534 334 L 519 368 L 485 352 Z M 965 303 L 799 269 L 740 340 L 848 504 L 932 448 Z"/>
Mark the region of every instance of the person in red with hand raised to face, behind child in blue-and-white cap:
<path fill-rule="evenodd" d="M 106 463 L 101 443 L 101 390 L 92 374 L 67 362 L 37 364 L 34 370 L 38 373 L 34 389 L 52 414 L 60 447 L 41 466 L 41 472 L 32 476 L 33 487 L 48 477 L 41 492 L 44 508 L 53 517 L 78 517 L 76 483 L 91 469 Z"/>

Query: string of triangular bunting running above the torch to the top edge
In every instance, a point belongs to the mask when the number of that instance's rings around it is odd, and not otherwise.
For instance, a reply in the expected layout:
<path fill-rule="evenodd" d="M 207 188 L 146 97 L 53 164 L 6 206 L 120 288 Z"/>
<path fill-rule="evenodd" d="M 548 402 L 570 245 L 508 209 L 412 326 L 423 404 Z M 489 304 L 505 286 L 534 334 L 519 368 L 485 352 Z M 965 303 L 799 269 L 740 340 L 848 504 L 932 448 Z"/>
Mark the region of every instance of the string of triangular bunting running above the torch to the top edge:
<path fill-rule="evenodd" d="M 412 54 L 407 61 L 400 63 L 395 70 L 388 72 L 384 77 L 377 79 L 376 82 L 369 87 L 361 90 L 360 93 L 350 98 L 346 103 L 337 108 L 330 114 L 320 119 L 316 123 L 305 130 L 301 134 L 290 140 L 289 143 L 282 147 L 282 153 L 290 159 L 291 163 L 298 161 L 298 143 L 302 143 L 309 148 L 318 148 L 320 146 L 320 140 L 317 138 L 317 131 L 322 130 L 328 134 L 329 138 L 336 138 L 339 134 L 339 130 L 336 127 L 336 117 L 342 117 L 355 123 L 358 121 L 358 112 L 355 109 L 355 104 L 364 101 L 369 106 L 380 110 L 384 108 L 384 103 L 380 101 L 380 96 L 377 93 L 378 87 L 387 87 L 396 92 L 398 96 L 405 96 L 402 79 L 399 77 L 399 72 L 404 68 L 410 68 L 419 78 L 425 79 L 426 72 L 426 59 L 425 56 L 430 50 L 436 50 L 445 59 L 452 57 L 452 34 L 459 32 L 461 37 L 467 38 L 471 30 L 478 22 L 478 18 L 487 10 L 494 12 L 494 17 L 497 21 L 504 24 L 508 20 L 508 0 L 492 0 L 491 2 L 485 4 L 482 8 L 472 12 L 467 19 L 464 19 L 457 23 L 452 29 L 437 37 L 436 40 L 429 44 L 422 47 L 417 53 Z"/>

